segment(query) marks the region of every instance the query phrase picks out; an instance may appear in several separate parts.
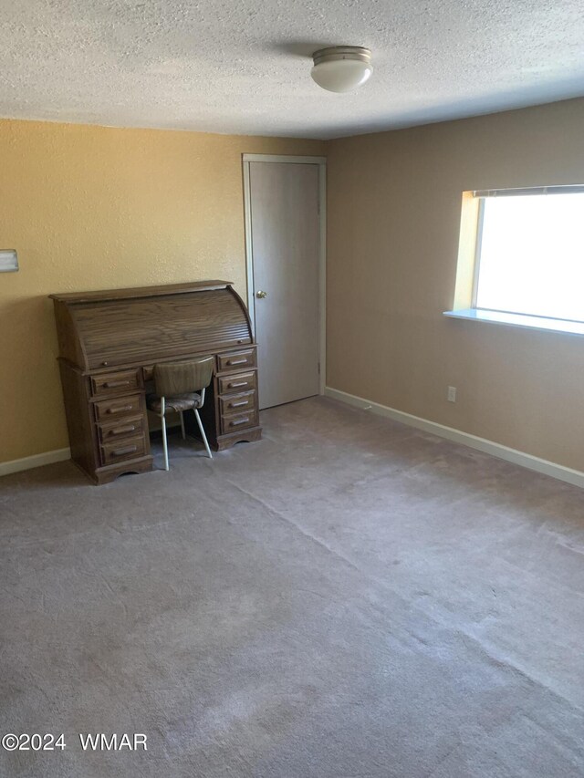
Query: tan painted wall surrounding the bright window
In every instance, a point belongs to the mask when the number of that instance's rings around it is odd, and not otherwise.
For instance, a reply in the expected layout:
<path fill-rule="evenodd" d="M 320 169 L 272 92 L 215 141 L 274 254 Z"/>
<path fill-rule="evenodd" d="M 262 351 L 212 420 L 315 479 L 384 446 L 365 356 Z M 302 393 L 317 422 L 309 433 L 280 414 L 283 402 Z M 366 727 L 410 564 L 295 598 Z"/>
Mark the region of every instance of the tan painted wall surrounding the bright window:
<path fill-rule="evenodd" d="M 574 182 L 584 99 L 332 141 L 328 386 L 584 471 L 584 337 L 442 316 L 461 193 Z"/>

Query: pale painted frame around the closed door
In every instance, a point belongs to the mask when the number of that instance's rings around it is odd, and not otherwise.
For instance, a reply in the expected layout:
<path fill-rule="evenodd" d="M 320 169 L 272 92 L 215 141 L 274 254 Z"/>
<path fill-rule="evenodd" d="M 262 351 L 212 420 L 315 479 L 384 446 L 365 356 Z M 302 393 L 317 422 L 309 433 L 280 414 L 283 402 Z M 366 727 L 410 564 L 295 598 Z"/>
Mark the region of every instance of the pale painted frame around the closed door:
<path fill-rule="evenodd" d="M 318 165 L 318 393 L 327 383 L 327 158 L 283 154 L 243 154 L 245 216 L 245 283 L 247 310 L 255 338 L 254 251 L 252 246 L 250 162 L 285 162 L 292 165 Z"/>

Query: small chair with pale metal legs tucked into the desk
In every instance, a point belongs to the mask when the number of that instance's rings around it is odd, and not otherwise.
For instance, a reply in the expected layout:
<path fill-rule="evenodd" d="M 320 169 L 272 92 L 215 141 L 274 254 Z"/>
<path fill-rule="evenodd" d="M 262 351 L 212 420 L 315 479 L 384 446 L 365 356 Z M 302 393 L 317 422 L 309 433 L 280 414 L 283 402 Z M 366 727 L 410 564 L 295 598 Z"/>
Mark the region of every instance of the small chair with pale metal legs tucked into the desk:
<path fill-rule="evenodd" d="M 156 394 L 147 399 L 149 410 L 157 413 L 162 420 L 162 446 L 164 449 L 164 469 L 169 470 L 168 465 L 168 441 L 166 439 L 165 413 L 174 410 L 181 414 L 181 429 L 184 435 L 185 410 L 193 410 L 204 447 L 210 459 L 213 454 L 209 448 L 209 441 L 204 433 L 203 422 L 199 416 L 199 409 L 203 408 L 204 392 L 211 383 L 213 377 L 214 358 L 190 359 L 188 362 L 167 362 L 154 365 L 154 389 Z"/>

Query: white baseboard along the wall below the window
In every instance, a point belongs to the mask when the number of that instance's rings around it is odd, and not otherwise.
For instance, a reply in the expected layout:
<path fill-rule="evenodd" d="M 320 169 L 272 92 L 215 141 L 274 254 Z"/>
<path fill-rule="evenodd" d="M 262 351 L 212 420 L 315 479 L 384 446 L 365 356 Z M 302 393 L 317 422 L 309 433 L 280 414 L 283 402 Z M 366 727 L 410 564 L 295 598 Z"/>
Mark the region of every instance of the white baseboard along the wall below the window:
<path fill-rule="evenodd" d="M 558 478 L 559 481 L 572 483 L 574 486 L 579 486 L 584 489 L 584 472 L 580 472 L 579 470 L 572 470 L 569 467 L 556 464 L 556 462 L 548 462 L 547 460 L 539 459 L 539 457 L 534 457 L 531 454 L 525 453 L 525 451 L 516 451 L 516 449 L 510 449 L 507 446 L 501 445 L 501 443 L 487 441 L 485 438 L 470 435 L 468 432 L 454 430 L 453 427 L 446 427 L 443 424 L 438 424 L 436 421 L 422 419 L 419 416 L 412 416 L 411 413 L 404 413 L 402 410 L 389 408 L 387 405 L 381 405 L 379 402 L 371 402 L 369 399 L 356 397 L 354 394 L 340 391 L 340 389 L 331 389 L 330 387 L 327 387 L 325 389 L 325 396 L 332 399 L 339 399 L 342 402 L 346 402 L 361 410 L 370 410 L 371 413 L 375 413 L 378 416 L 385 416 L 387 419 L 401 421 L 402 424 L 409 424 L 410 427 L 416 427 L 418 430 L 431 432 L 433 435 L 446 438 L 448 441 L 462 443 L 464 446 L 470 446 L 472 449 L 491 454 L 494 457 L 506 460 L 506 462 L 519 464 L 522 467 L 527 467 L 529 470 L 542 472 L 544 475 L 550 475 L 552 478 Z"/>

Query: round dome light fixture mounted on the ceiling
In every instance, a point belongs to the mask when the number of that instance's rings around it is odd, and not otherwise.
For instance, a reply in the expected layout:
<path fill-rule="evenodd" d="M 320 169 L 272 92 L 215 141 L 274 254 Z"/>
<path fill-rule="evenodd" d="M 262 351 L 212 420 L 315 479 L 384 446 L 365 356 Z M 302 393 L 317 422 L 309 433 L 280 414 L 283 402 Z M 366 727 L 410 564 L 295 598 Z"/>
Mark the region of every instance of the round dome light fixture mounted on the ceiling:
<path fill-rule="evenodd" d="M 364 84 L 373 72 L 371 52 L 361 46 L 319 48 L 312 55 L 310 75 L 329 92 L 351 92 Z"/>

